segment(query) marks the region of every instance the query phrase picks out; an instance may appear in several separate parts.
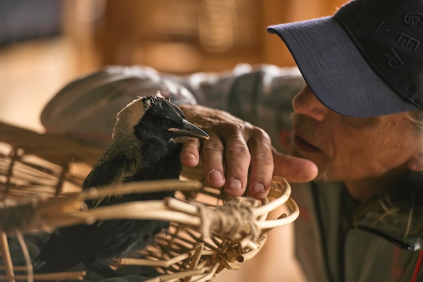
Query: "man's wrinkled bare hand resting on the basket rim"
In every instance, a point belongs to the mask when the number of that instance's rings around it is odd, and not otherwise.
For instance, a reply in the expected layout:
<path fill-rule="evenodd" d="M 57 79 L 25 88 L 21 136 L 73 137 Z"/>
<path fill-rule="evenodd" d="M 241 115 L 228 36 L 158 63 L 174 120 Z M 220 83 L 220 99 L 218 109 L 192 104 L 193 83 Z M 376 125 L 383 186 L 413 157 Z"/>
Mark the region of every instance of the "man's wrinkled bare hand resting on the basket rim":
<path fill-rule="evenodd" d="M 181 161 L 194 167 L 203 160 L 205 179 L 231 197 L 262 199 L 269 193 L 272 175 L 290 182 L 307 182 L 317 176 L 317 166 L 306 159 L 284 155 L 271 146 L 268 134 L 228 112 L 200 105 L 180 105 L 188 121 L 209 134 L 209 140 L 184 143 Z"/>

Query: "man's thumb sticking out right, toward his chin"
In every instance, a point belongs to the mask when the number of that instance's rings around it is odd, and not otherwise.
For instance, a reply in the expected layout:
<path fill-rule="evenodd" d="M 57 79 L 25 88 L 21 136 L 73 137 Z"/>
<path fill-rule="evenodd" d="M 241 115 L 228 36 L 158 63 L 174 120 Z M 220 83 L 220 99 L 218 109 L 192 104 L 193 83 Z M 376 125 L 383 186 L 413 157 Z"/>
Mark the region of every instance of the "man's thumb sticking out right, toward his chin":
<path fill-rule="evenodd" d="M 288 182 L 308 182 L 317 177 L 317 165 L 307 159 L 281 154 L 272 150 L 273 174 L 287 179 Z"/>

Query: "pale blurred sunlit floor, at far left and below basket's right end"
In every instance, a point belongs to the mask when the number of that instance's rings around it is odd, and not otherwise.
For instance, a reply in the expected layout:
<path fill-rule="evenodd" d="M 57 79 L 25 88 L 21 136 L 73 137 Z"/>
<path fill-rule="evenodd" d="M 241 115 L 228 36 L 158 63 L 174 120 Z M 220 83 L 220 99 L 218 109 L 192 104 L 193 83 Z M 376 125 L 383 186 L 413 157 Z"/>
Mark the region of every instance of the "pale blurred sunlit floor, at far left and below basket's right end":
<path fill-rule="evenodd" d="M 64 38 L 0 49 L 0 120 L 43 132 L 44 105 L 70 80 L 98 69 L 94 62 L 81 62 L 78 46 Z M 304 282 L 292 242 L 292 226 L 271 231 L 257 256 L 241 270 L 224 270 L 215 282 Z"/>

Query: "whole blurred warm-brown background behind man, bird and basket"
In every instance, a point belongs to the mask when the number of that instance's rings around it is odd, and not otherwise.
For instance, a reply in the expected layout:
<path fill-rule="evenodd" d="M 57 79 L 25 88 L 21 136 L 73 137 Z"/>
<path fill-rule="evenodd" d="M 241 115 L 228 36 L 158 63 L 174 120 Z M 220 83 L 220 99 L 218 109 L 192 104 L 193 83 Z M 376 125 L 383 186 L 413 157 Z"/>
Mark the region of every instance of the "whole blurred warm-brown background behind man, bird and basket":
<path fill-rule="evenodd" d="M 294 66 L 269 25 L 332 15 L 345 0 L 0 0 L 0 120 L 43 132 L 44 105 L 71 80 L 109 64 L 161 72 L 238 63 Z M 1 132 L 0 132 L 1 134 Z M 291 226 L 217 282 L 304 281 Z"/>

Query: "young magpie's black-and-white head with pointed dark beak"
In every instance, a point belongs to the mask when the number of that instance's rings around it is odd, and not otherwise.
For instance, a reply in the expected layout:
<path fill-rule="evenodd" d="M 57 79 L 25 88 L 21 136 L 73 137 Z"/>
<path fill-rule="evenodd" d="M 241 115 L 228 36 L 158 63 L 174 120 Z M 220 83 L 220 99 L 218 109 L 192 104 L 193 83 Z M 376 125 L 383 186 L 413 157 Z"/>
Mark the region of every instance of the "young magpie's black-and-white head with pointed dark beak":
<path fill-rule="evenodd" d="M 123 108 L 117 115 L 113 139 L 127 142 L 178 142 L 186 137 L 209 139 L 206 132 L 185 119 L 175 104 L 159 93 L 156 96 L 138 98 Z"/>

